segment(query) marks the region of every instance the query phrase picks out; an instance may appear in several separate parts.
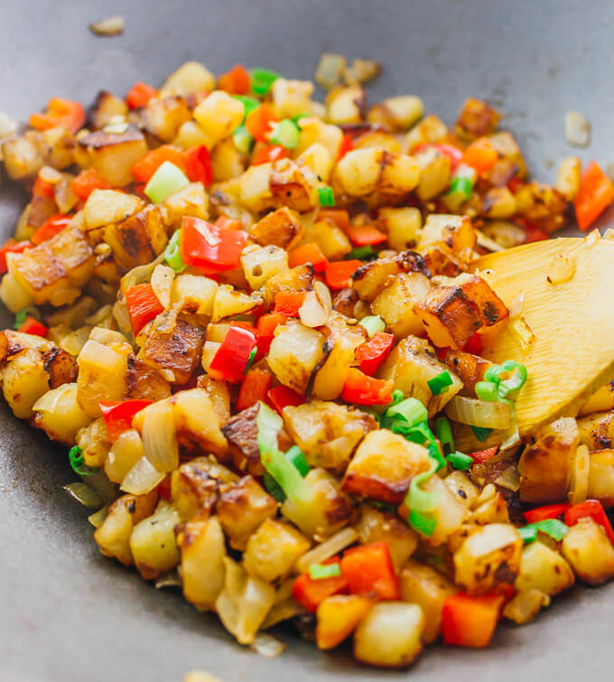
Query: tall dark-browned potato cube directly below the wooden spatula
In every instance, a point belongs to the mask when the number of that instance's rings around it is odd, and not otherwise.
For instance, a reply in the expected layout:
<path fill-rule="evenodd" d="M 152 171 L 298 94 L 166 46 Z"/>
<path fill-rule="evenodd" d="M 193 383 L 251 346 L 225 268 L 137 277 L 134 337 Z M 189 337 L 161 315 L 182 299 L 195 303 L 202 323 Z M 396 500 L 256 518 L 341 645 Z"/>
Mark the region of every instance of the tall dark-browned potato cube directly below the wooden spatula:
<path fill-rule="evenodd" d="M 518 462 L 520 501 L 554 504 L 565 500 L 577 447 L 578 426 L 572 417 L 542 427 L 535 434 L 535 443 L 526 446 Z"/>

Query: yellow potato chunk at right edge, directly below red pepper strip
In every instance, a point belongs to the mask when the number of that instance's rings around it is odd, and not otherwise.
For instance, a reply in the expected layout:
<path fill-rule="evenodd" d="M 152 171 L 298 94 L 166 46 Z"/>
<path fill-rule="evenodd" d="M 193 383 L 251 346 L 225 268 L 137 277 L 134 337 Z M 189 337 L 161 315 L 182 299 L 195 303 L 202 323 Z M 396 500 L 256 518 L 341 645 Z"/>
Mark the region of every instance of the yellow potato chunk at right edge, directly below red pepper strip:
<path fill-rule="evenodd" d="M 582 582 L 597 586 L 614 578 L 614 547 L 592 519 L 580 519 L 572 526 L 563 537 L 562 549 Z"/>

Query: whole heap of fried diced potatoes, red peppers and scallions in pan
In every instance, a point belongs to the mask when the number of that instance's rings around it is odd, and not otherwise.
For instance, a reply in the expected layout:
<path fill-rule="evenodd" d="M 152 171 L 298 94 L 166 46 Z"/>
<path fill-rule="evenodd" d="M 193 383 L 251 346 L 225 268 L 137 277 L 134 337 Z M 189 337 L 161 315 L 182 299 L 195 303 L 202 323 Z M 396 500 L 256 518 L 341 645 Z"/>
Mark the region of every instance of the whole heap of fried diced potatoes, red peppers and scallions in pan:
<path fill-rule="evenodd" d="M 292 621 L 397 667 L 614 577 L 614 394 L 521 439 L 532 378 L 480 352 L 526 324 L 472 266 L 574 211 L 588 229 L 614 185 L 576 158 L 535 182 L 487 103 L 449 127 L 338 67 L 323 104 L 189 62 L 3 117 L 30 202 L 0 251 L 0 380 L 65 446 L 104 555 L 241 644 Z"/>

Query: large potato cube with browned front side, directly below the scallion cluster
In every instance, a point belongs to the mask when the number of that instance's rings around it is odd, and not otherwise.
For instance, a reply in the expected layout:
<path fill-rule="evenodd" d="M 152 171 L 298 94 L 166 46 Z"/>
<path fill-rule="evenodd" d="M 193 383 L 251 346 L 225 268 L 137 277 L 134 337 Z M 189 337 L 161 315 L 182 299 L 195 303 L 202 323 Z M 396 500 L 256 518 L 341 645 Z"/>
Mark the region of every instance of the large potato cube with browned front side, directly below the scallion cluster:
<path fill-rule="evenodd" d="M 422 445 L 378 429 L 358 445 L 341 487 L 356 495 L 400 504 L 414 476 L 429 466 L 429 455 Z"/>

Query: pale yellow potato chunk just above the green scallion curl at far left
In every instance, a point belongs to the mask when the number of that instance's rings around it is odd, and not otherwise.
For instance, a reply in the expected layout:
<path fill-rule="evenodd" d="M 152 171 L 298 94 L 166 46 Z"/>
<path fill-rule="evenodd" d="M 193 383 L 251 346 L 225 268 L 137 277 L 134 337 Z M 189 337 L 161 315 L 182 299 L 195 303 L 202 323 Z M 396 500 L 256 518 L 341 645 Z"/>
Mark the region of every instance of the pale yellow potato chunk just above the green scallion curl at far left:
<path fill-rule="evenodd" d="M 53 441 L 72 446 L 80 428 L 90 417 L 77 402 L 77 384 L 62 384 L 40 397 L 33 405 L 34 425 Z"/>

